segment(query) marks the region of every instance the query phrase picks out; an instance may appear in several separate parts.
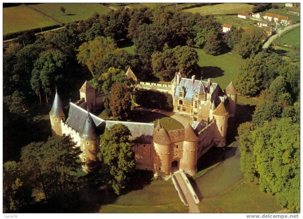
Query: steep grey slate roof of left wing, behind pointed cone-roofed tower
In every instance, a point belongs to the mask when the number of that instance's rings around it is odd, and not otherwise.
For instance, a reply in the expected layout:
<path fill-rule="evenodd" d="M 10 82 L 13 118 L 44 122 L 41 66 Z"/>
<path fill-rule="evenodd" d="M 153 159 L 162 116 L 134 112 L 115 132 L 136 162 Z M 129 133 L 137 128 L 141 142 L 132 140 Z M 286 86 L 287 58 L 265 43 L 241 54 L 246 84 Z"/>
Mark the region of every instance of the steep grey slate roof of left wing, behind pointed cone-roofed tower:
<path fill-rule="evenodd" d="M 81 132 L 85 124 L 87 111 L 73 103 L 69 104 L 68 118 L 66 119 L 65 123 L 74 128 L 76 131 Z M 98 118 L 92 113 L 89 114 L 97 127 L 98 133 L 102 132 L 105 128 L 105 120 Z"/>

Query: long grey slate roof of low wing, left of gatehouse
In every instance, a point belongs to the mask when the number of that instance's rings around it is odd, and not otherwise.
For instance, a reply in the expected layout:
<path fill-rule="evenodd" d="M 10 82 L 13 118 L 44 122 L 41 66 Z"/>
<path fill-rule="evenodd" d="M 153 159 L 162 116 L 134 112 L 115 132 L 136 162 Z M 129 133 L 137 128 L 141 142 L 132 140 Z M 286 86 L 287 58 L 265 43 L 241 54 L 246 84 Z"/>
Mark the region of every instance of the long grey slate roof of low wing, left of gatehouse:
<path fill-rule="evenodd" d="M 154 124 L 124 121 L 106 121 L 105 128 L 111 128 L 115 124 L 123 124 L 128 127 L 132 133 L 132 140 L 138 144 L 152 144 L 152 135 L 154 133 Z"/>

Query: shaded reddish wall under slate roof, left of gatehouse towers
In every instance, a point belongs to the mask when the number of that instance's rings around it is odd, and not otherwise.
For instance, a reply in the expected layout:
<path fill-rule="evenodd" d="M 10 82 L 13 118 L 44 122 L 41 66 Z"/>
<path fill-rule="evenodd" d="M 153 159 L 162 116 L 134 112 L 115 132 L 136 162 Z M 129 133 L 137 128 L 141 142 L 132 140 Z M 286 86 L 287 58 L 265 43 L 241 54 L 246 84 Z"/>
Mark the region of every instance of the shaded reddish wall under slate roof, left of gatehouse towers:
<path fill-rule="evenodd" d="M 132 151 L 135 152 L 137 169 L 153 170 L 153 146 L 151 144 L 135 144 Z"/>

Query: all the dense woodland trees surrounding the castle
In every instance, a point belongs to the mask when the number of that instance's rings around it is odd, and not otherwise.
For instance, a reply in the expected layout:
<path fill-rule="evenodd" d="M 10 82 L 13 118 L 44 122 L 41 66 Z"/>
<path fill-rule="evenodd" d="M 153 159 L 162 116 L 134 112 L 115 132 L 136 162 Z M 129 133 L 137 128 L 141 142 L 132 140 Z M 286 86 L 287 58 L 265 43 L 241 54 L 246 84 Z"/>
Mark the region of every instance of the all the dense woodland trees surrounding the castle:
<path fill-rule="evenodd" d="M 78 89 L 74 87 L 76 77 L 89 77 L 97 90 L 110 93 L 105 108 L 114 119 L 127 118 L 132 95 L 147 107 L 171 109 L 171 97 L 135 91 L 135 83 L 125 77 L 125 71 L 131 67 L 141 81 L 170 81 L 176 71 L 187 77 L 199 75 L 193 48 L 203 48 L 210 55 L 234 49 L 246 59 L 239 68 L 236 88 L 242 95 L 259 96 L 259 101 L 252 121 L 238 129 L 241 170 L 246 178 L 258 181 L 261 190 L 276 195 L 282 207 L 300 211 L 299 67 L 278 55 L 259 52 L 263 33 L 258 28 L 246 32 L 232 28 L 222 39 L 221 26 L 211 15 L 175 12 L 164 6 L 121 8 L 43 35 L 25 32 L 3 45 L 7 130 L 3 150 L 4 161 L 8 161 L 3 173 L 3 211 L 30 209 L 35 204 L 33 190 L 42 191 L 49 203 L 72 195 L 79 198 L 76 194 L 84 182 L 98 182 L 120 194 L 135 167 L 127 128 L 105 131 L 101 141 L 115 147 L 103 148 L 98 154 L 102 170 L 78 178 L 74 173 L 81 168 L 80 152 L 70 137 L 28 142 L 35 131 L 29 114 L 33 108 L 49 110 L 55 87 L 60 93 Z M 135 55 L 119 48 L 127 43 L 135 45 Z M 152 103 L 144 96 L 162 96 L 163 101 Z M 118 133 L 119 138 L 113 138 Z M 128 165 L 119 169 L 125 162 Z"/>

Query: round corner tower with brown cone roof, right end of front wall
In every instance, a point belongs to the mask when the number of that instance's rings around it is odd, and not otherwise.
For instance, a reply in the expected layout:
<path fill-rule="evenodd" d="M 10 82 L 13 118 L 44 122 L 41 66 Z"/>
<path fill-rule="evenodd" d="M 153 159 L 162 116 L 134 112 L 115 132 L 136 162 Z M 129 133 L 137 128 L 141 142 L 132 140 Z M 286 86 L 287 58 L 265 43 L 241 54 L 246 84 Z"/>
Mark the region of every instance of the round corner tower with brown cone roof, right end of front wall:
<path fill-rule="evenodd" d="M 213 111 L 212 115 L 215 120 L 214 141 L 217 147 L 223 147 L 226 144 L 228 112 L 222 102 Z"/>

